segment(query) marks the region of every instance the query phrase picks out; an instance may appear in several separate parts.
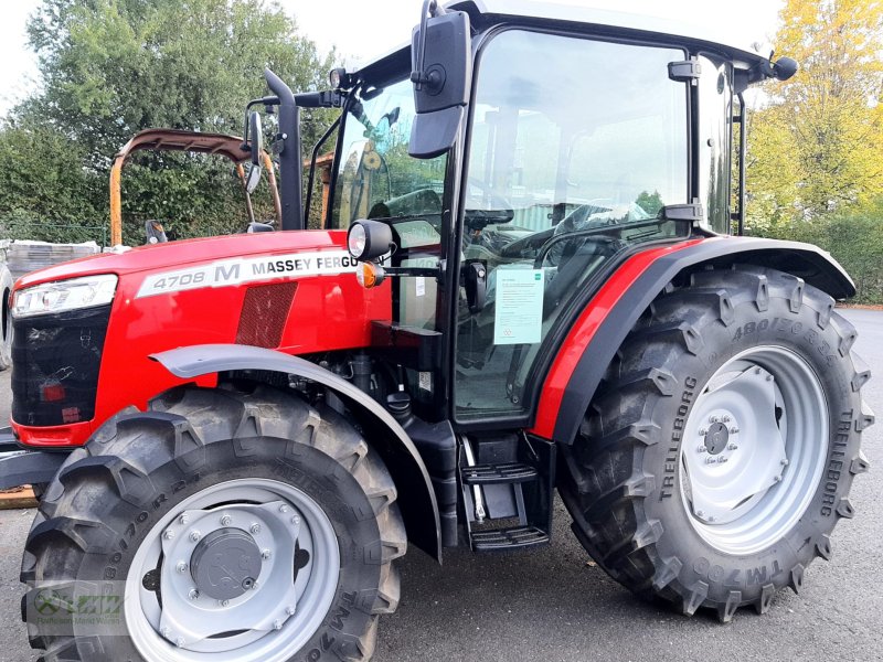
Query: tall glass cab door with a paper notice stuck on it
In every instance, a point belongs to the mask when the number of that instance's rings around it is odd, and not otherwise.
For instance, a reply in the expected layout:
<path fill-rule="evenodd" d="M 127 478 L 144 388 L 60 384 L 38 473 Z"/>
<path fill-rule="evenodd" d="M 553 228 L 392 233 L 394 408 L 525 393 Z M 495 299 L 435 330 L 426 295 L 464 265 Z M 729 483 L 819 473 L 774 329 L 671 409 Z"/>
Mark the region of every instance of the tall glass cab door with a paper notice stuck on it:
<path fill-rule="evenodd" d="M 563 312 L 616 256 L 681 232 L 658 213 L 688 202 L 687 85 L 668 76 L 685 57 L 518 29 L 482 46 L 460 270 L 482 265 L 487 296 L 478 308 L 459 295 L 460 424 L 529 416 Z"/>

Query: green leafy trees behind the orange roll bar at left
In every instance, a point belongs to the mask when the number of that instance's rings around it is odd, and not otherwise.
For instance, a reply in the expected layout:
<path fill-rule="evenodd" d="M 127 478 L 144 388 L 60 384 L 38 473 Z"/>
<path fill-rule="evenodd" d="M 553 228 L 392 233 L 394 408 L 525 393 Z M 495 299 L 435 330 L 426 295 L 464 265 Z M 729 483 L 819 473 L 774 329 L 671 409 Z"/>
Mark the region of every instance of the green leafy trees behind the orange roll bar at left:
<path fill-rule="evenodd" d="M 0 128 L 0 154 L 13 164 L 0 172 L 0 218 L 78 225 L 107 223 L 110 164 L 137 131 L 241 134 L 245 103 L 267 94 L 265 65 L 305 90 L 333 58 L 263 0 L 43 0 L 29 35 L 43 89 Z M 305 151 L 329 121 L 327 111 L 302 114 Z M 256 216 L 268 218 L 263 189 Z M 141 153 L 124 169 L 123 201 L 130 244 L 143 242 L 146 218 L 180 237 L 245 226 L 242 188 L 221 157 Z"/>

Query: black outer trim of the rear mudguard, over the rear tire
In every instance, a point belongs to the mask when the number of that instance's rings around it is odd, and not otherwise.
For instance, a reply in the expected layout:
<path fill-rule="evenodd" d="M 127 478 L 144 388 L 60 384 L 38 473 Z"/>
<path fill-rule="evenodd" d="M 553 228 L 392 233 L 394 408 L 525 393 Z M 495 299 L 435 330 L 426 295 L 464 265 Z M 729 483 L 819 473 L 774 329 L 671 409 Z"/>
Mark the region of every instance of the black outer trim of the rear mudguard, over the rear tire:
<path fill-rule="evenodd" d="M 855 293 L 855 286 L 843 267 L 810 244 L 756 237 L 721 237 L 660 257 L 623 293 L 579 357 L 564 391 L 553 440 L 573 442 L 607 366 L 635 322 L 678 274 L 700 264 L 770 267 L 799 276 L 834 299 Z"/>

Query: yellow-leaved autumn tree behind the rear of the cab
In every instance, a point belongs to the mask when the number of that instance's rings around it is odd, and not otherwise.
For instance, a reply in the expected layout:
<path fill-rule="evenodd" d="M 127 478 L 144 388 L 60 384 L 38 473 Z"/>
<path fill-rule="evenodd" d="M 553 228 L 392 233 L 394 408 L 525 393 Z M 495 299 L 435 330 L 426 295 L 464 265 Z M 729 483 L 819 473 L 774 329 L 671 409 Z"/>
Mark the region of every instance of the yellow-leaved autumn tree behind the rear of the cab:
<path fill-rule="evenodd" d="M 766 85 L 751 124 L 748 221 L 769 232 L 861 209 L 883 194 L 883 2 L 787 0 L 777 55 L 800 63 Z"/>

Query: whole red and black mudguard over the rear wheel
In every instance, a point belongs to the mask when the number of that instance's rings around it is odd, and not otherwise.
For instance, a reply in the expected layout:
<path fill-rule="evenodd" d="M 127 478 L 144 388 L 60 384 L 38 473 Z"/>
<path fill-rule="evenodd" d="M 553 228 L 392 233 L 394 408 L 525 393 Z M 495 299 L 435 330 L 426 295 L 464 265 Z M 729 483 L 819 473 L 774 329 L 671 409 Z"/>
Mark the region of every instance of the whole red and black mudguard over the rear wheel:
<path fill-rule="evenodd" d="M 572 444 L 607 366 L 635 322 L 678 274 L 702 264 L 770 267 L 798 276 L 834 299 L 855 293 L 843 267 L 810 244 L 712 237 L 648 248 L 610 276 L 574 323 L 546 374 L 530 431 Z"/>

